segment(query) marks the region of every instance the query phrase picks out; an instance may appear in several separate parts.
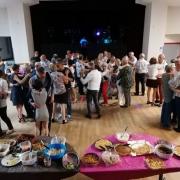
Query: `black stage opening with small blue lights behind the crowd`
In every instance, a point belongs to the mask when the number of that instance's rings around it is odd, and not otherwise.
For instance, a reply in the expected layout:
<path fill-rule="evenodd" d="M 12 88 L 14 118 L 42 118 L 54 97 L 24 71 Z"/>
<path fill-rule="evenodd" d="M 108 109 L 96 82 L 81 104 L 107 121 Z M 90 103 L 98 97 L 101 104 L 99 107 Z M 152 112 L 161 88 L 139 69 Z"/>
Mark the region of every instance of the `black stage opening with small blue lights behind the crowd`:
<path fill-rule="evenodd" d="M 81 51 L 85 37 L 89 58 L 100 51 L 122 57 L 142 51 L 145 7 L 134 0 L 41 2 L 31 7 L 35 50 L 64 57 L 66 50 Z"/>

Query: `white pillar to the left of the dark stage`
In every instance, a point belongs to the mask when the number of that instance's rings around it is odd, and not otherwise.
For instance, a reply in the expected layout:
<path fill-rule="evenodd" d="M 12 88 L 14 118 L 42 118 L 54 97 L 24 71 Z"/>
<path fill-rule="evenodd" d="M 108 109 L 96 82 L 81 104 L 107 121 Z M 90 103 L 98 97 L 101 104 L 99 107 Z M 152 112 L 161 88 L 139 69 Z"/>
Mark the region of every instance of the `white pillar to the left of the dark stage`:
<path fill-rule="evenodd" d="M 34 50 L 29 6 L 21 0 L 13 0 L 7 10 L 15 62 L 27 63 Z"/>

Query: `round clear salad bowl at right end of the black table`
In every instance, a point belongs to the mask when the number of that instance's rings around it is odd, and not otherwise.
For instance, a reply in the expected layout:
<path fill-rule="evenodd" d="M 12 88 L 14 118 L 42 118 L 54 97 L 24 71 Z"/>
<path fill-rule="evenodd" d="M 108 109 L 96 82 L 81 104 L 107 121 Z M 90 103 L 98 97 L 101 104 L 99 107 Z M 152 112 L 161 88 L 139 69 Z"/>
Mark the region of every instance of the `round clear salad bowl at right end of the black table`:
<path fill-rule="evenodd" d="M 79 163 L 79 156 L 74 152 L 68 152 L 62 158 L 62 165 L 67 170 L 76 169 Z"/>

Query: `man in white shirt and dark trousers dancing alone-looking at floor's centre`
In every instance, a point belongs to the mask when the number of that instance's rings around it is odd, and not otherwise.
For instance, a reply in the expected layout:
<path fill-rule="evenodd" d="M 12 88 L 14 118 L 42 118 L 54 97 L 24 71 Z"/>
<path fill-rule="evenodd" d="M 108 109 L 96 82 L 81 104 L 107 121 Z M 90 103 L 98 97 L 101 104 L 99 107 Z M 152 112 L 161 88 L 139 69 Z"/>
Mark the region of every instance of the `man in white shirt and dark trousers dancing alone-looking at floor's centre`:
<path fill-rule="evenodd" d="M 87 76 L 84 79 L 82 78 L 81 74 L 81 82 L 83 84 L 88 84 L 86 95 L 88 114 L 86 117 L 91 119 L 91 104 L 93 100 L 96 108 L 96 113 L 98 115 L 97 118 L 100 118 L 101 114 L 98 102 L 98 92 L 101 84 L 101 72 L 95 69 L 95 64 L 92 62 L 89 63 L 89 68 L 91 69 L 91 71 L 87 74 Z"/>

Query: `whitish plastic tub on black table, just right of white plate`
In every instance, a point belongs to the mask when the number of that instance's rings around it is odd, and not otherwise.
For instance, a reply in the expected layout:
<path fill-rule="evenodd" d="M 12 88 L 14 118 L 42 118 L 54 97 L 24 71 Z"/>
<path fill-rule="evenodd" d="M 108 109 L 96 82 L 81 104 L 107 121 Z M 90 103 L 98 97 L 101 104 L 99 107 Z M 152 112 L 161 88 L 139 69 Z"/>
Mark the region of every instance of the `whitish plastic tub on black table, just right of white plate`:
<path fill-rule="evenodd" d="M 24 166 L 32 166 L 37 161 L 37 153 L 26 151 L 21 155 L 21 161 Z"/>

